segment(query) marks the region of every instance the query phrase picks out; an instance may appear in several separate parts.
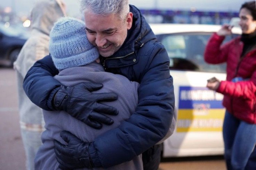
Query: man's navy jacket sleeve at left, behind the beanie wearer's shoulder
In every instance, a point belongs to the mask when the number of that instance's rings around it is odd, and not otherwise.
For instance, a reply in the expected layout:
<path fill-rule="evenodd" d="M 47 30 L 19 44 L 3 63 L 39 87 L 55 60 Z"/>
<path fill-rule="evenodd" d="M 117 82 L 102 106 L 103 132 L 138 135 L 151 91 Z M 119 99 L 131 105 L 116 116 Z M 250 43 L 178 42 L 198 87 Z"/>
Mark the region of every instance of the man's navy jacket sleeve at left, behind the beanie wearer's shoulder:
<path fill-rule="evenodd" d="M 23 88 L 29 99 L 40 108 L 54 110 L 51 105 L 53 95 L 61 86 L 53 76 L 58 74 L 51 56 L 38 60 L 27 72 Z M 49 100 L 48 100 L 49 99 Z"/>

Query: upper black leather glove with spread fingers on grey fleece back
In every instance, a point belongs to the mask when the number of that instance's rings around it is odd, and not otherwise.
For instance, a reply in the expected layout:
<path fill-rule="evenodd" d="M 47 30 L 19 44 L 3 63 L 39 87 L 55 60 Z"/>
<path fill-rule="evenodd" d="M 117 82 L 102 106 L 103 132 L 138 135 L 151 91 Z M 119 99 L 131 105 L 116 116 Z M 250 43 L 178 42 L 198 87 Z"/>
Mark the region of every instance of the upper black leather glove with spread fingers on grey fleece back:
<path fill-rule="evenodd" d="M 102 124 L 111 125 L 114 121 L 102 113 L 117 115 L 117 109 L 98 102 L 117 100 L 117 94 L 90 93 L 99 90 L 102 86 L 98 83 L 79 83 L 73 87 L 61 86 L 54 95 L 53 106 L 56 110 L 65 110 L 74 118 L 95 129 L 102 128 Z"/>

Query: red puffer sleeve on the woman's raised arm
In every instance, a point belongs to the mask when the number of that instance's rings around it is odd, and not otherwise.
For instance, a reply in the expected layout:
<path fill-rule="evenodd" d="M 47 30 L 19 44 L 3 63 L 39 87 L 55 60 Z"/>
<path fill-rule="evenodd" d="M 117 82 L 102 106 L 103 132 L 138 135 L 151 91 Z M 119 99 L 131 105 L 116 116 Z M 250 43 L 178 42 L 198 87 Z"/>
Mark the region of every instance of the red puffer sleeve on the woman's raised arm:
<path fill-rule="evenodd" d="M 229 46 L 232 41 L 221 46 L 225 36 L 219 36 L 217 33 L 214 33 L 205 49 L 204 58 L 207 63 L 218 64 L 227 61 L 227 56 L 229 53 Z"/>

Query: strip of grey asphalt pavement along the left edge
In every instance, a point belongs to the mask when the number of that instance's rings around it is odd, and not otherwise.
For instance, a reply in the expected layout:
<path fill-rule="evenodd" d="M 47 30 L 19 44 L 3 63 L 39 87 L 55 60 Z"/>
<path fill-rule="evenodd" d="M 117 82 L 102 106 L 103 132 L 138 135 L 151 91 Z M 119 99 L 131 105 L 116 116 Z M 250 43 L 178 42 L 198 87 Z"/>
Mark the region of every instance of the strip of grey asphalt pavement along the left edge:
<path fill-rule="evenodd" d="M 25 170 L 15 72 L 0 68 L 0 170 Z"/>

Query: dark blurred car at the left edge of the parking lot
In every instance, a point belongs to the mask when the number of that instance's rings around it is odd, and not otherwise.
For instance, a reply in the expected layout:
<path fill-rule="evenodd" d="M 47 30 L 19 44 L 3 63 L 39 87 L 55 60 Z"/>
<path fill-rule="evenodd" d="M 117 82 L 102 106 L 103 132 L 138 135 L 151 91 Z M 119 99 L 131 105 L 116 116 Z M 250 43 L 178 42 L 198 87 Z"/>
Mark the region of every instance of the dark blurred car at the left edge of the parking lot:
<path fill-rule="evenodd" d="M 0 24 L 0 60 L 4 61 L 5 65 L 13 66 L 27 39 L 27 32 Z"/>

